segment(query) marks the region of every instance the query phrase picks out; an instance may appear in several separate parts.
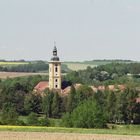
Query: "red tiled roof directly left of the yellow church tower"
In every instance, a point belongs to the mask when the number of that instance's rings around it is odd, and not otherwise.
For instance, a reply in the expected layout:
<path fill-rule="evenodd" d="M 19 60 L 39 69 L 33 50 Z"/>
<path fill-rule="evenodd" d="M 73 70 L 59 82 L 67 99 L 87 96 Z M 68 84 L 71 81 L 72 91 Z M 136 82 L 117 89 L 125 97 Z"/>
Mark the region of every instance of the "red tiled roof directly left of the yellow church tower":
<path fill-rule="evenodd" d="M 44 91 L 47 88 L 49 88 L 49 82 L 42 81 L 42 82 L 39 82 L 34 89 L 37 91 Z"/>

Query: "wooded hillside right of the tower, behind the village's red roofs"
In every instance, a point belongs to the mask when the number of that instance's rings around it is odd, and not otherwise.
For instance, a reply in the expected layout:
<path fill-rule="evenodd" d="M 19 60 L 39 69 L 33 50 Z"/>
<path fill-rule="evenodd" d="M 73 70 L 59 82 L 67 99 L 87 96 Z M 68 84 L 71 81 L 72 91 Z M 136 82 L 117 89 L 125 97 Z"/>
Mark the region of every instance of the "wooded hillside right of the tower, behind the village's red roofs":
<path fill-rule="evenodd" d="M 101 65 L 95 68 L 88 67 L 86 70 L 72 71 L 65 79 L 73 83 L 83 84 L 102 84 L 106 81 L 113 83 L 127 74 L 132 74 L 135 78 L 139 78 L 140 63 L 111 63 Z"/>

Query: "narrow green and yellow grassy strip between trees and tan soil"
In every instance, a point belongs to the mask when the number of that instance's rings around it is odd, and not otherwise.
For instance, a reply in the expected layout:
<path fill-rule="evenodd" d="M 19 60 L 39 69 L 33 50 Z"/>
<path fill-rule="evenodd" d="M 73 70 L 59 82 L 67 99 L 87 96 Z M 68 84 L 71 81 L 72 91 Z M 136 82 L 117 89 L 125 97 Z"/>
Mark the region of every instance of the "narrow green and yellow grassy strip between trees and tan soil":
<path fill-rule="evenodd" d="M 59 132 L 59 133 L 82 133 L 82 134 L 115 134 L 140 136 L 140 126 L 127 125 L 115 126 L 113 129 L 82 129 L 64 127 L 40 127 L 40 126 L 0 126 L 0 131 L 17 132 Z"/>

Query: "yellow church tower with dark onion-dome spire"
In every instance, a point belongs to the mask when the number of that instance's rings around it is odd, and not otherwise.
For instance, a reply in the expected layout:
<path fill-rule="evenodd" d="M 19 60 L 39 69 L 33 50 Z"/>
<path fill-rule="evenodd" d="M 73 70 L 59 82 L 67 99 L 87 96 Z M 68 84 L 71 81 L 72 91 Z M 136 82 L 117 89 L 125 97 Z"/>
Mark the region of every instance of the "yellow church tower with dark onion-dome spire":
<path fill-rule="evenodd" d="M 57 56 L 56 45 L 53 49 L 53 57 L 49 62 L 49 89 L 61 90 L 61 62 Z"/>

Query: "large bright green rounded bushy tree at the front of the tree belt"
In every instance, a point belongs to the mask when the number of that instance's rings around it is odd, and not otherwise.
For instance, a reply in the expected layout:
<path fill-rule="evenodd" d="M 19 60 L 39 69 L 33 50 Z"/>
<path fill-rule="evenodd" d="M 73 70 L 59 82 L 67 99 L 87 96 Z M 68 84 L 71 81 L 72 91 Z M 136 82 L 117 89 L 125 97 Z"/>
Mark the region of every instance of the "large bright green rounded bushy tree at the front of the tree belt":
<path fill-rule="evenodd" d="M 107 124 L 106 113 L 94 100 L 83 102 L 64 118 L 64 124 L 68 123 L 68 125 L 78 128 L 104 128 Z"/>

